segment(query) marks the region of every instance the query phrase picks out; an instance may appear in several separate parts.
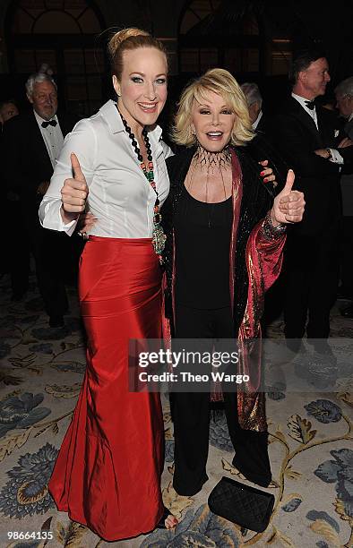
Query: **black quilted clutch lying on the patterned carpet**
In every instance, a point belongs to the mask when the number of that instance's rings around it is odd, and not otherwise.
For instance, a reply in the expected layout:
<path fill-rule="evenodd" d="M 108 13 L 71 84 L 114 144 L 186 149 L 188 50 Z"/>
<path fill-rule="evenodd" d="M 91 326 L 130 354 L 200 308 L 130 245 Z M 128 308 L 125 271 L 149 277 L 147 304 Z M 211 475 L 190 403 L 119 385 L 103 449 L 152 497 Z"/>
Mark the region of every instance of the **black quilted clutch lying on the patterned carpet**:
<path fill-rule="evenodd" d="M 274 496 L 223 476 L 209 496 L 211 512 L 241 527 L 262 533 L 269 525 Z"/>

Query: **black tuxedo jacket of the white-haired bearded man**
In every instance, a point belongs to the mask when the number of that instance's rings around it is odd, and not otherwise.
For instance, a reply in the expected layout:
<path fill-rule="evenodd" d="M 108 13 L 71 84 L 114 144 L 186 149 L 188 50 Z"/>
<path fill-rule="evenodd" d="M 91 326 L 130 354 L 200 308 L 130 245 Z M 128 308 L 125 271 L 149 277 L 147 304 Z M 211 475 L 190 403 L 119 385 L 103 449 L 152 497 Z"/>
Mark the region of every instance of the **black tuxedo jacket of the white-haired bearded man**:
<path fill-rule="evenodd" d="M 77 122 L 77 118 L 60 113 L 57 119 L 64 137 Z M 39 184 L 50 181 L 54 170 L 33 110 L 4 124 L 1 157 L 7 188 L 19 193 L 24 203 L 37 203 Z"/>

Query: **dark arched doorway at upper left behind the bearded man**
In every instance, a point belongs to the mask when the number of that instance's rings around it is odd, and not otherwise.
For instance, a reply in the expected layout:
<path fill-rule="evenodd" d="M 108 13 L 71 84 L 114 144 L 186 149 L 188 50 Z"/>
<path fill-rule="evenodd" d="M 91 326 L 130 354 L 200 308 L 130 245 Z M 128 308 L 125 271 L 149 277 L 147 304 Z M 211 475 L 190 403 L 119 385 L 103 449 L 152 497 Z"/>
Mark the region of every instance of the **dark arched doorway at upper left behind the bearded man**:
<path fill-rule="evenodd" d="M 60 105 L 90 115 L 102 103 L 107 61 L 97 35 L 105 23 L 90 0 L 15 0 L 6 14 L 10 73 L 25 81 L 48 64 Z"/>

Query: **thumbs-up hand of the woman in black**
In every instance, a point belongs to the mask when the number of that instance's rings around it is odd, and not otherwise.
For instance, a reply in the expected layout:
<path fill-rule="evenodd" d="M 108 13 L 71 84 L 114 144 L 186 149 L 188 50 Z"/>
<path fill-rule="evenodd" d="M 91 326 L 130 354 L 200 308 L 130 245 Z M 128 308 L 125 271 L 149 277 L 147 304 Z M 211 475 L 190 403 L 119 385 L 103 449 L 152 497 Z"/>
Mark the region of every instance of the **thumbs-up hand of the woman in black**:
<path fill-rule="evenodd" d="M 271 222 L 274 227 L 286 223 L 298 223 L 302 220 L 306 202 L 304 194 L 293 191 L 294 171 L 289 169 L 286 184 L 276 196 L 271 209 Z"/>

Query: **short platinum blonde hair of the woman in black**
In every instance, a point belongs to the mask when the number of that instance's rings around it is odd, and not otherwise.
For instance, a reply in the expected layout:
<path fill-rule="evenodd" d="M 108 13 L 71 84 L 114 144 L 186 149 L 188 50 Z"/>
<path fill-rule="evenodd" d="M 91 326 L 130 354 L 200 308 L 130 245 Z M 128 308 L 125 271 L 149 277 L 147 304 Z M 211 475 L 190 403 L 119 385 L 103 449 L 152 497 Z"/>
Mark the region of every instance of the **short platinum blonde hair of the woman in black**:
<path fill-rule="evenodd" d="M 254 138 L 249 111 L 243 91 L 231 73 L 224 69 L 211 69 L 188 84 L 178 102 L 172 139 L 178 145 L 192 147 L 197 143 L 193 133 L 194 102 L 203 103 L 213 91 L 220 95 L 228 108 L 236 115 L 230 137 L 233 145 L 243 146 Z"/>

